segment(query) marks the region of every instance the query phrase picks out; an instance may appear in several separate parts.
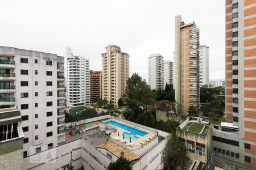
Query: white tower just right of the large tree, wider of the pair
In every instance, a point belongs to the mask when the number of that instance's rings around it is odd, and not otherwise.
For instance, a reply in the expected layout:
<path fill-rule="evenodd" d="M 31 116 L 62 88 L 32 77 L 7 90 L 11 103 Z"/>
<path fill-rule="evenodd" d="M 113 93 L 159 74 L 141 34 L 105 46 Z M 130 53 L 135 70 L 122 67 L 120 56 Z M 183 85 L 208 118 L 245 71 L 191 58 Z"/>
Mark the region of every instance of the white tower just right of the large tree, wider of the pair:
<path fill-rule="evenodd" d="M 148 57 L 148 84 L 153 89 L 163 89 L 164 84 L 164 60 L 161 54 L 151 54 Z"/>

